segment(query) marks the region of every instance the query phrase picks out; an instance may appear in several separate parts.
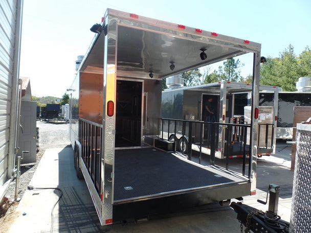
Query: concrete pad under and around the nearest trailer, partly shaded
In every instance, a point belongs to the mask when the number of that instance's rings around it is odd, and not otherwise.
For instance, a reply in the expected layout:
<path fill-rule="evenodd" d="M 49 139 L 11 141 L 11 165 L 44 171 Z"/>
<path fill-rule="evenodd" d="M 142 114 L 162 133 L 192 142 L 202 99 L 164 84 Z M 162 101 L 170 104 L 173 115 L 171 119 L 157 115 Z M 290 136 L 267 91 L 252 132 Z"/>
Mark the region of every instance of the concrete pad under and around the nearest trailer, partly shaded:
<path fill-rule="evenodd" d="M 260 189 L 256 195 L 245 197 L 244 203 L 266 211 L 268 204 L 262 205 L 257 199 L 265 200 L 269 183 L 276 183 L 281 185 L 279 215 L 282 220 L 290 221 L 294 173 L 288 169 L 288 151 L 284 149 L 282 152 L 284 154 L 258 160 L 257 187 Z M 233 168 L 240 169 L 240 161 L 230 162 Z M 142 223 L 100 226 L 85 181 L 76 177 L 71 147 L 46 150 L 30 185 L 62 191 L 53 212 L 52 232 L 240 232 L 237 214 L 229 206 L 222 207 L 217 203 L 202 206 L 200 211 L 152 217 Z M 60 192 L 54 189 L 27 190 L 8 232 L 50 232 L 51 211 L 59 197 Z"/>

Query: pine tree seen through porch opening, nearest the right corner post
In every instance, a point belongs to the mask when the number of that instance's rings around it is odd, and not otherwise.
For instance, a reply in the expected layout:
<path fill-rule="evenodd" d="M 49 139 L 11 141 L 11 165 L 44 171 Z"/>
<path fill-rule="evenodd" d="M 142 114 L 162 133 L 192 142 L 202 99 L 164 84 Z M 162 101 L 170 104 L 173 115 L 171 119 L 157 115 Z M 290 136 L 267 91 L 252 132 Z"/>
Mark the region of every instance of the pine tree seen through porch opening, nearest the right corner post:
<path fill-rule="evenodd" d="M 241 79 L 240 68 L 244 66 L 244 64 L 240 64 L 240 60 L 234 60 L 234 58 L 229 58 L 224 61 L 224 68 L 223 66 L 219 66 L 218 72 L 220 75 L 221 80 L 237 82 Z"/>

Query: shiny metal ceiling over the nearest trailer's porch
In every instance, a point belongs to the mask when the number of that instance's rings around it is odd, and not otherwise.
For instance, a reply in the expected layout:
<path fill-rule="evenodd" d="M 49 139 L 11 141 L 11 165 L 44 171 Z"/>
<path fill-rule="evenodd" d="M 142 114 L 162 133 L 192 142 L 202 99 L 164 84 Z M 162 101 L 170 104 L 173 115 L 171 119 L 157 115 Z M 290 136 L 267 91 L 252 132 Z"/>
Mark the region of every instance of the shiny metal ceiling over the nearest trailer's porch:
<path fill-rule="evenodd" d="M 173 30 L 160 32 L 127 25 L 117 25 L 116 29 L 116 35 L 109 36 L 108 32 L 106 47 L 104 33 L 97 37 L 81 72 L 102 73 L 104 48 L 108 48 L 108 60 L 115 60 L 115 46 L 118 76 L 149 78 L 152 72 L 153 79 L 162 79 L 250 52 L 240 41 L 227 43 L 201 35 Z M 200 49 L 206 49 L 206 60 L 201 60 Z M 170 69 L 171 62 L 175 65 L 173 71 Z"/>

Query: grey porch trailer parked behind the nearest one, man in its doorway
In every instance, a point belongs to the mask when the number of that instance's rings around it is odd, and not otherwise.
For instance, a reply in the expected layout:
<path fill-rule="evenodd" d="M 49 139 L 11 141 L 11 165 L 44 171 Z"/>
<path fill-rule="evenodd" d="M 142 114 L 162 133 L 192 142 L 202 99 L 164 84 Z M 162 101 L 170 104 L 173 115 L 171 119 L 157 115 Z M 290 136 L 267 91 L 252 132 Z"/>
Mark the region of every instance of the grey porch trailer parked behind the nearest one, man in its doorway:
<path fill-rule="evenodd" d="M 278 106 L 278 87 L 260 85 L 260 91 L 269 92 L 270 101 L 268 107 L 259 107 L 259 136 L 257 138 L 257 154 L 258 156 L 270 155 L 275 153 L 276 147 L 276 119 Z M 203 84 L 198 86 L 189 86 L 173 89 L 165 89 L 162 91 L 162 112 L 161 117 L 164 119 L 192 120 L 192 149 L 201 150 L 203 153 L 211 154 L 208 135 L 200 142 L 199 134 L 208 133 L 211 126 L 205 124 L 204 130 L 201 132 L 198 124 L 199 121 L 206 121 L 204 116 L 204 106 L 208 99 L 212 98 L 212 105 L 215 111 L 215 122 L 217 123 L 237 123 L 250 124 L 250 115 L 248 115 L 248 107 L 250 107 L 250 99 L 252 86 L 248 83 L 237 83 L 229 81 L 220 81 L 215 83 Z M 263 113 L 264 111 L 264 113 Z M 261 114 L 260 114 L 261 113 Z M 263 117 L 265 118 L 263 120 Z M 174 132 L 174 121 L 170 121 L 170 130 L 167 129 L 168 120 L 164 121 L 165 139 L 173 139 L 176 142 L 177 150 L 186 152 L 189 147 L 189 124 L 185 123 L 185 133 L 182 134 L 182 124 L 177 125 Z M 177 123 L 176 123 L 177 124 Z M 231 137 L 226 137 L 230 127 L 226 124 L 217 125 L 215 136 L 217 158 L 242 157 L 243 156 L 243 139 L 247 139 L 250 130 L 246 134 L 234 126 Z M 162 136 L 162 135 L 161 135 Z M 182 139 L 181 139 L 182 138 Z M 195 140 L 196 139 L 196 140 Z M 249 144 L 249 141 L 246 140 Z M 227 144 L 230 144 L 228 150 Z M 183 147 L 183 149 L 182 149 Z M 246 145 L 248 150 L 249 145 Z M 248 153 L 249 154 L 249 153 Z"/>

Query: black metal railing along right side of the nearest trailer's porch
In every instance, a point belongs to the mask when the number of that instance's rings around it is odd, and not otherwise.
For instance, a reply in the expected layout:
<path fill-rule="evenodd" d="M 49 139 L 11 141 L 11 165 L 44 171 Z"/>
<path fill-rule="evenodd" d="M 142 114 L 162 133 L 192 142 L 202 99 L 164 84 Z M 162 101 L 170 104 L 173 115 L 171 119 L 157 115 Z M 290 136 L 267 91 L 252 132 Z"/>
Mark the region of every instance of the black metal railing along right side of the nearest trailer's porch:
<path fill-rule="evenodd" d="M 246 124 L 243 118 L 231 119 L 232 123 L 202 122 L 190 120 L 161 119 L 162 139 L 175 142 L 175 151 L 187 155 L 192 160 L 193 150 L 198 152 L 198 163 L 202 163 L 202 156 L 209 155 L 209 164 L 215 165 L 216 158 L 226 159 L 226 169 L 229 170 L 229 161 L 232 157 L 242 157 L 242 174 L 246 174 L 247 156 L 250 153 L 251 125 Z M 266 124 L 265 145 L 262 149 L 271 146 L 269 138 L 273 138 L 272 124 Z M 261 125 L 260 127 L 263 127 Z M 262 139 L 262 138 L 261 138 Z M 260 138 L 258 136 L 258 142 Z M 196 152 L 196 154 L 197 154 Z M 260 154 L 260 149 L 258 149 Z M 208 158 L 208 157 L 206 157 Z M 250 165 L 248 163 L 248 176 Z"/>

